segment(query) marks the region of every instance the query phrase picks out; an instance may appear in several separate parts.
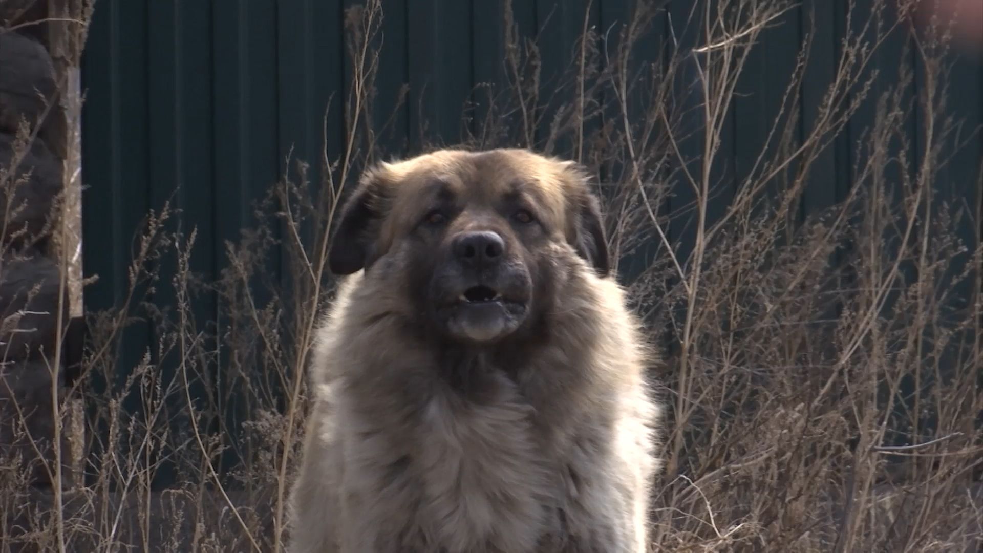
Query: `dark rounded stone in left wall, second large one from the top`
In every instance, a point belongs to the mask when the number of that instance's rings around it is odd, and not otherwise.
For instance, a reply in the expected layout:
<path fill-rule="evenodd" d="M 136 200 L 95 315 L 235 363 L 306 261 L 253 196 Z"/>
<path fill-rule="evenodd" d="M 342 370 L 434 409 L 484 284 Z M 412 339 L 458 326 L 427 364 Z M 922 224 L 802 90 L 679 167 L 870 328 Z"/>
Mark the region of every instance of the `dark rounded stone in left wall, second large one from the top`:
<path fill-rule="evenodd" d="M 12 135 L 0 134 L 0 185 L 6 183 L 11 186 L 15 182 L 9 176 L 3 176 L 10 174 L 14 158 L 13 143 Z M 7 194 L 6 191 L 0 193 L 0 239 L 16 248 L 43 238 L 40 233 L 54 199 L 62 189 L 62 162 L 43 143 L 34 141 L 14 172 L 15 179 L 21 179 L 26 174 L 30 178 L 14 189 L 14 213 L 9 220 L 3 218 L 7 211 Z"/>

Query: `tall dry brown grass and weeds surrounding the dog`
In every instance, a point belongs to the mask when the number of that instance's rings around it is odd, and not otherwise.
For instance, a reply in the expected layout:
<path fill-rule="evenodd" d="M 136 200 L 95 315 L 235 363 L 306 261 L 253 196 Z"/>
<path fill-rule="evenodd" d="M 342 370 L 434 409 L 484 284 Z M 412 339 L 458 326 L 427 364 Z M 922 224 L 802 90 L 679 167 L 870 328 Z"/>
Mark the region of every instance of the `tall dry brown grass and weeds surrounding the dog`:
<path fill-rule="evenodd" d="M 641 2 L 608 34 L 617 40 L 585 25 L 565 80 L 549 87 L 565 101 L 541 97 L 538 48 L 503 16 L 508 82 L 481 98 L 487 116 L 465 146 L 581 160 L 604 175 L 615 257 L 655 260 L 625 281 L 670 352 L 653 368 L 669 413 L 653 551 L 966 551 L 983 539 L 981 214 L 936 187 L 952 145 L 976 130 L 947 115 L 946 29 L 922 31 L 911 42 L 919 73 L 904 66 L 888 82 L 872 60 L 888 33 L 907 31 L 896 29 L 896 2 L 863 13 L 849 4 L 852 31 L 817 110 L 803 120 L 792 108 L 807 39 L 767 144 L 717 211 L 738 78 L 791 2 L 694 2 L 688 26 L 701 46 L 670 41 L 665 63 L 641 68 L 633 60 L 655 5 Z M 304 367 L 331 297 L 327 230 L 345 188 L 384 154 L 371 123 L 380 17 L 376 0 L 348 12 L 351 88 L 328 107 L 350 130 L 342 153 L 309 160 L 320 186 L 309 165 L 290 164 L 258 206 L 261 224 L 227 245 L 220 278 L 190 271 L 196 234 L 174 229 L 175 211 L 147 216 L 129 294 L 87 314 L 85 386 L 73 392 L 92 405 L 87 480 L 33 490 L 23 462 L 0 462 L 0 552 L 281 550 Z M 913 79 L 923 93 L 912 99 Z M 694 91 L 703 100 L 687 103 Z M 805 191 L 824 184 L 814 176 L 822 155 L 862 105 L 876 118 L 849 145 L 845 199 L 800 219 Z M 680 189 L 691 201 L 665 214 Z M 690 221 L 686 248 L 670 240 L 674 217 Z M 263 271 L 280 249 L 286 286 Z M 175 276 L 162 279 L 168 264 Z M 160 290 L 174 297 L 171 311 L 147 301 Z M 204 293 L 217 294 L 220 315 L 202 325 L 193 306 Z M 147 322 L 158 341 L 121 368 L 129 329 Z M 174 485 L 161 492 L 153 483 L 165 472 Z"/>

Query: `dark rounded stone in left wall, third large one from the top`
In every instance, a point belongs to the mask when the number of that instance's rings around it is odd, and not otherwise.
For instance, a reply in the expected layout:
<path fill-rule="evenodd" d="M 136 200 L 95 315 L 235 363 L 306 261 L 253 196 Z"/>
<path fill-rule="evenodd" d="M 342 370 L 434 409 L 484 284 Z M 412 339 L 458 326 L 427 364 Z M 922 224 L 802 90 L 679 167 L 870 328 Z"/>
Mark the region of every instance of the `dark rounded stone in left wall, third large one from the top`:
<path fill-rule="evenodd" d="M 0 362 L 54 357 L 59 277 L 42 256 L 0 260 Z M 68 324 L 67 301 L 62 322 Z"/>

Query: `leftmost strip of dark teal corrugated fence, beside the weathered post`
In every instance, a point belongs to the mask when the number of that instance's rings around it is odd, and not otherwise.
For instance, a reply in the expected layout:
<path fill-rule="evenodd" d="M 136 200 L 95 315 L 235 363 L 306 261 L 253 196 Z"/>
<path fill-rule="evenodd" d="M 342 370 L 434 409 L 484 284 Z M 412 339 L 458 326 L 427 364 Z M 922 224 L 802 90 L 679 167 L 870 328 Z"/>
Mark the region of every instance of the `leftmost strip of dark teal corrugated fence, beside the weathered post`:
<path fill-rule="evenodd" d="M 82 113 L 83 186 L 87 187 L 83 271 L 98 276 L 84 290 L 87 309 L 120 305 L 124 300 L 130 289 L 127 268 L 134 256 L 134 232 L 150 206 L 146 17 L 144 2 L 103 5 L 92 23 L 83 61 L 83 90 L 98 91 L 86 98 Z M 99 63 L 91 63 L 92 59 Z M 145 292 L 145 285 L 136 292 Z M 126 378 L 118 367 L 129 369 L 140 363 L 150 343 L 150 326 L 130 325 L 118 343 L 119 351 L 106 354 L 116 366 L 98 367 L 101 374 L 93 378 L 100 388 Z M 100 381 L 103 374 L 108 382 Z M 123 406 L 137 412 L 140 402 L 130 398 Z M 101 446 L 107 427 L 98 420 L 96 445 Z"/>

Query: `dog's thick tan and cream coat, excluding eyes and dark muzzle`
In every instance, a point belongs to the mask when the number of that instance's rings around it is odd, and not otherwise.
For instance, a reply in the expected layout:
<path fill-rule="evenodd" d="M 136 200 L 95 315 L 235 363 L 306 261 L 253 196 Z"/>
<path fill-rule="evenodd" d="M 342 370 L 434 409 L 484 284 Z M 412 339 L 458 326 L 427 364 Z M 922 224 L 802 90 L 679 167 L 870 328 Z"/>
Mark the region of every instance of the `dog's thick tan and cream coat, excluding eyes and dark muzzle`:
<path fill-rule="evenodd" d="M 418 230 L 434 181 L 460 215 Z M 535 229 L 492 209 L 517 183 Z M 486 227 L 529 267 L 529 313 L 493 344 L 448 338 L 425 284 L 453 232 Z M 382 163 L 334 243 L 344 278 L 313 352 L 292 553 L 646 550 L 652 359 L 578 165 L 523 150 Z"/>

